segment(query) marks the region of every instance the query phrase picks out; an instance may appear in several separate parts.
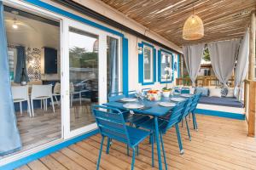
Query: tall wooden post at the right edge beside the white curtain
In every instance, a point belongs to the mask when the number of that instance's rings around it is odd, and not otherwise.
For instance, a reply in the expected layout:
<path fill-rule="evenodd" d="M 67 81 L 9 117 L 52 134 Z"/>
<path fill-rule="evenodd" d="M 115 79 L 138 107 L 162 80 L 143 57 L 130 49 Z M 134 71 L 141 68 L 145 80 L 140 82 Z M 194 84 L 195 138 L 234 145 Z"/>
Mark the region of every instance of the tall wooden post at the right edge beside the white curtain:
<path fill-rule="evenodd" d="M 251 24 L 250 24 L 250 37 L 249 37 L 249 71 L 248 71 L 248 79 L 249 83 L 249 110 L 248 110 L 248 136 L 255 137 L 255 107 L 256 107 L 256 82 L 254 82 L 255 78 L 255 11 L 251 14 Z"/>

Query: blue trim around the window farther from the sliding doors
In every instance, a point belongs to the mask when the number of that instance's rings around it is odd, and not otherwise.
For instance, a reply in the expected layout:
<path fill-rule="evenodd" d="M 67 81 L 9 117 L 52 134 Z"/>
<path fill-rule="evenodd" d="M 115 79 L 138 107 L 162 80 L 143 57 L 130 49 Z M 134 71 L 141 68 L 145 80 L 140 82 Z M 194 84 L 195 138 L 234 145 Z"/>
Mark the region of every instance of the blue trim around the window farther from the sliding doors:
<path fill-rule="evenodd" d="M 165 52 L 166 54 L 171 54 L 172 55 L 172 81 L 161 81 L 161 52 Z M 159 49 L 158 50 L 158 82 L 162 83 L 172 83 L 174 80 L 174 62 L 173 62 L 174 56 L 172 52 L 166 51 L 165 49 Z"/>

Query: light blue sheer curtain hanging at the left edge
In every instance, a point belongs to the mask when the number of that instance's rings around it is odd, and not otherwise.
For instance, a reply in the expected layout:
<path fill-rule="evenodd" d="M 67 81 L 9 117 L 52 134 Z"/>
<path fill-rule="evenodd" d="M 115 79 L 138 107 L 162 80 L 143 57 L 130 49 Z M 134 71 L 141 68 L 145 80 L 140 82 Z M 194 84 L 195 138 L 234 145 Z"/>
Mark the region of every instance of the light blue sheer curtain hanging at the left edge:
<path fill-rule="evenodd" d="M 0 156 L 20 150 L 20 133 L 16 124 L 15 106 L 9 79 L 9 59 L 3 17 L 3 2 L 0 1 Z"/>

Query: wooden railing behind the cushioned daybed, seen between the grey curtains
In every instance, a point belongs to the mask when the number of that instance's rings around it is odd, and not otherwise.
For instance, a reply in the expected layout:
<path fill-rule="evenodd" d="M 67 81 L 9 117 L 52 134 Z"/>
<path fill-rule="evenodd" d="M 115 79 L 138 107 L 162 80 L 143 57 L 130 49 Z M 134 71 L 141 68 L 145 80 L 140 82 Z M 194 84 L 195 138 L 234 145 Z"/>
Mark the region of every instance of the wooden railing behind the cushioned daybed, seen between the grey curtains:
<path fill-rule="evenodd" d="M 191 86 L 192 82 L 189 77 L 184 78 L 177 78 L 176 79 L 177 85 L 183 86 Z M 218 81 L 217 77 L 197 77 L 195 81 L 196 86 L 220 86 L 220 82 Z M 230 88 L 234 88 L 234 77 L 231 77 L 228 81 L 228 85 Z"/>

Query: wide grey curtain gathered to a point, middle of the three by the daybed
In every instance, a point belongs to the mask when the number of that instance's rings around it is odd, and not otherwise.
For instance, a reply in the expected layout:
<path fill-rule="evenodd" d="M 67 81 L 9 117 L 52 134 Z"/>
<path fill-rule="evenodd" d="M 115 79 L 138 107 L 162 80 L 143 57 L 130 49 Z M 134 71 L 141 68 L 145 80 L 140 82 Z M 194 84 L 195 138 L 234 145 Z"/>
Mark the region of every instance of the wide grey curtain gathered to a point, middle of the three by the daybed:
<path fill-rule="evenodd" d="M 236 63 L 239 40 L 208 43 L 212 69 L 219 82 L 227 87 Z"/>

